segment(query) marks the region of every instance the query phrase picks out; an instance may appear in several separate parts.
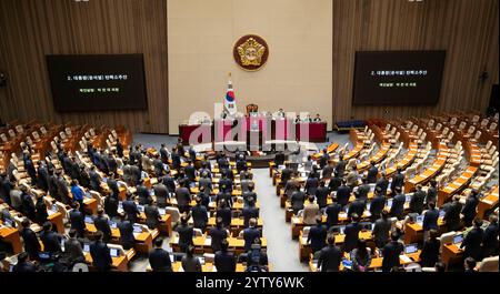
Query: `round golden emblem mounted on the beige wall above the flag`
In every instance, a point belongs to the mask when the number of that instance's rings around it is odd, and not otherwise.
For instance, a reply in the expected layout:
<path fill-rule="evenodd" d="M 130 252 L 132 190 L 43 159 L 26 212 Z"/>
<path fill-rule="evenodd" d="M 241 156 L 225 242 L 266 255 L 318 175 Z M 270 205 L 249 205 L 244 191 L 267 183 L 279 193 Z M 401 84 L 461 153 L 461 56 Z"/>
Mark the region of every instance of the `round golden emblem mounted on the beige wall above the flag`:
<path fill-rule="evenodd" d="M 234 44 L 233 55 L 243 70 L 256 71 L 268 61 L 269 48 L 259 36 L 247 34 Z"/>

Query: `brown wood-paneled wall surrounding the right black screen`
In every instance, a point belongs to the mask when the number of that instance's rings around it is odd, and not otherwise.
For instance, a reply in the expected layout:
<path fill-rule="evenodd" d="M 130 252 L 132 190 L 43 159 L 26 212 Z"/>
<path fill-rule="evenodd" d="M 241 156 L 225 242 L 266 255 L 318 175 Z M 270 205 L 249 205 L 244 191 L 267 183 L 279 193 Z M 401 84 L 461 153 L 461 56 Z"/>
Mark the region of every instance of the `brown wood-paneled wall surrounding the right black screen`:
<path fill-rule="evenodd" d="M 484 111 L 498 83 L 498 0 L 333 0 L 333 121 Z M 447 50 L 439 104 L 351 105 L 357 50 Z"/>

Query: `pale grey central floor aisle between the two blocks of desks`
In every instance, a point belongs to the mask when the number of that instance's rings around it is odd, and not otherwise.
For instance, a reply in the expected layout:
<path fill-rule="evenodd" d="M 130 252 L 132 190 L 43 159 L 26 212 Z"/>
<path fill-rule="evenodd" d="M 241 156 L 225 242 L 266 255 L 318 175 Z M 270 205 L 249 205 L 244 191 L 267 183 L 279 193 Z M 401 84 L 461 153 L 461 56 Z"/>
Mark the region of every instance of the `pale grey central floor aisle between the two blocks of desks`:
<path fill-rule="evenodd" d="M 276 186 L 269 178 L 269 169 L 253 169 L 256 193 L 260 202 L 263 235 L 268 239 L 268 257 L 273 272 L 307 272 L 306 263 L 299 262 L 299 243 L 291 240 L 290 224 L 284 222 Z"/>

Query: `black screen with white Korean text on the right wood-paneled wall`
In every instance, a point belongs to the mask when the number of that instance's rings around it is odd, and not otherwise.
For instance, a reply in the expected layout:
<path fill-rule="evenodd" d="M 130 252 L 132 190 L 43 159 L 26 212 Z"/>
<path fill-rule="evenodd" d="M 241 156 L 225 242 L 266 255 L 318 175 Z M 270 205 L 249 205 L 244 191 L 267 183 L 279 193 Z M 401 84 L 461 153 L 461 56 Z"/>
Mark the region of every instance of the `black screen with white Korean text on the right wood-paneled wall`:
<path fill-rule="evenodd" d="M 437 104 L 446 51 L 357 51 L 353 105 Z"/>

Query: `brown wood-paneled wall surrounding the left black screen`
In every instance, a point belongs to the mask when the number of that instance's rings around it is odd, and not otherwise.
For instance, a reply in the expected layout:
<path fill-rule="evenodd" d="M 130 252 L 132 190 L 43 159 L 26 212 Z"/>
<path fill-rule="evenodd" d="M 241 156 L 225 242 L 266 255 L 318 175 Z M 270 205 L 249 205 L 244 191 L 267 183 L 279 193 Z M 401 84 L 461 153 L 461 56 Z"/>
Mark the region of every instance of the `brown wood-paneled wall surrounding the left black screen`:
<path fill-rule="evenodd" d="M 168 131 L 166 0 L 1 0 L 0 118 Z M 148 111 L 57 113 L 46 54 L 143 53 Z"/>

